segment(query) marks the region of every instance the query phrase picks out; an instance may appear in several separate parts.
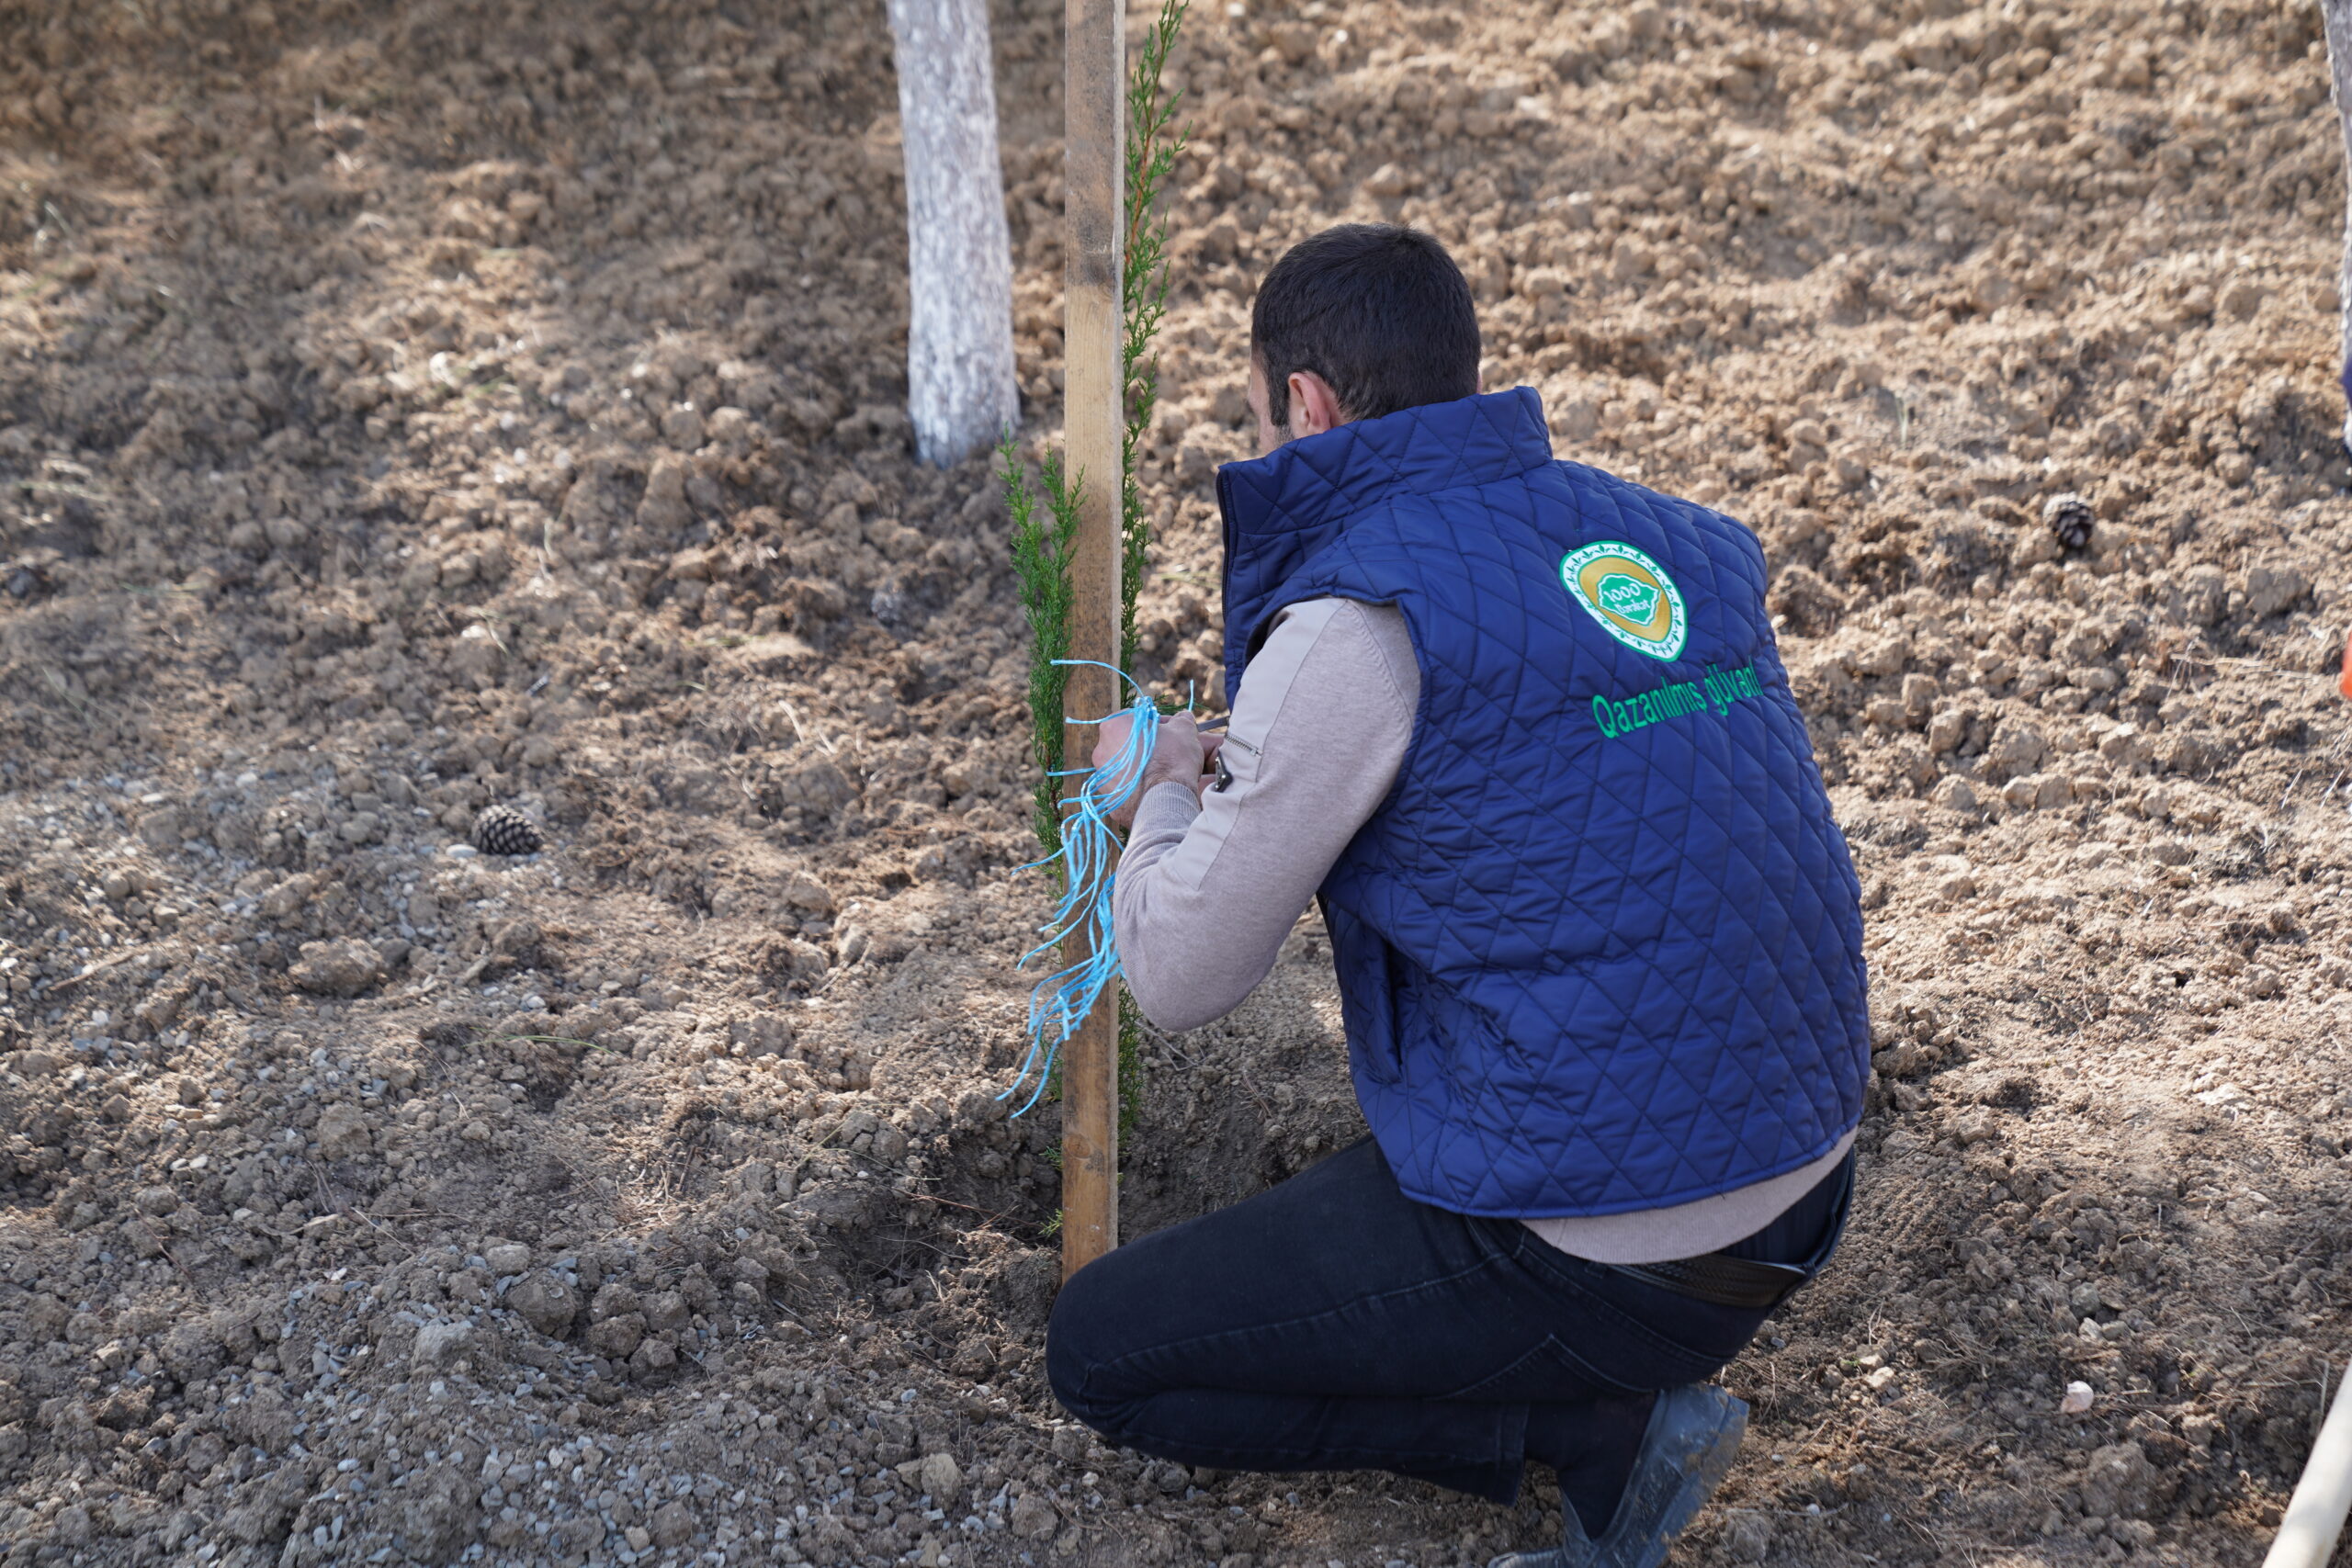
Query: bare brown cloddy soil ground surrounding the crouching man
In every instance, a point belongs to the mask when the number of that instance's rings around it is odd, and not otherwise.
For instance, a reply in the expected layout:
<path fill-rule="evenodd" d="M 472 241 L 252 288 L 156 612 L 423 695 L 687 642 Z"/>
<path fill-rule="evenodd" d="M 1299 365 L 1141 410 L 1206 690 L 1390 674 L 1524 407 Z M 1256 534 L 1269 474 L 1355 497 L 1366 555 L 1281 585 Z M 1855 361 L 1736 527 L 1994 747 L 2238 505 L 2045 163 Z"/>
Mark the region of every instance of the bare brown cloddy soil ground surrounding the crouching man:
<path fill-rule="evenodd" d="M 997 54 L 1047 421 L 1058 7 Z M 1148 677 L 1216 663 L 1251 277 L 1343 216 L 1776 562 L 1879 1072 L 1679 1561 L 2251 1563 L 2352 1291 L 2317 9 L 1242 0 L 1176 73 Z M 908 456 L 894 108 L 873 5 L 0 5 L 9 1566 L 1557 1530 L 1051 1406 L 1021 625 Z M 546 851 L 456 853 L 494 802 Z M 1148 1041 L 1131 1229 L 1357 1135 L 1324 966 Z"/>

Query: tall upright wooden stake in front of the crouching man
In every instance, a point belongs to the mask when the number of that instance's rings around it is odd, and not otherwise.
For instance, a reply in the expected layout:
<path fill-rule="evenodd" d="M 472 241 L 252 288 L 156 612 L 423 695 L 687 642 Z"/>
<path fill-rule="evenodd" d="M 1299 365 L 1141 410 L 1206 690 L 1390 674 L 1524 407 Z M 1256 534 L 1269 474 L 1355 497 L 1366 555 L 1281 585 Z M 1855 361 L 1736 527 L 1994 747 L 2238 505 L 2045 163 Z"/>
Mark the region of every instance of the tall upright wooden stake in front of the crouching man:
<path fill-rule="evenodd" d="M 1120 240 L 1127 179 L 1127 0 L 1063 9 L 1063 444 L 1080 482 L 1070 557 L 1070 658 L 1120 656 Z M 1098 719 L 1122 693 L 1105 670 L 1070 670 L 1063 712 Z M 1070 764 L 1094 748 L 1068 733 Z M 1084 936 L 1073 943 L 1084 943 Z M 1068 959 L 1084 957 L 1073 947 Z M 1120 992 L 1103 990 L 1061 1058 L 1061 1274 L 1120 1244 Z"/>

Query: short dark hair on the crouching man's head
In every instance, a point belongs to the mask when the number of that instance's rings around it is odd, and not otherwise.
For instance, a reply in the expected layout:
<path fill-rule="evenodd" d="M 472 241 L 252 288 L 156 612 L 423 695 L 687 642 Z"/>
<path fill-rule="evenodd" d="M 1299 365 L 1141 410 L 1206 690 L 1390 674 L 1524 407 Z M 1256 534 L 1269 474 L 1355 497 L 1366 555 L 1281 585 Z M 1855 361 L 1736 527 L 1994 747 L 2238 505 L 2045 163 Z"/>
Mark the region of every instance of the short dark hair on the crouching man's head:
<path fill-rule="evenodd" d="M 1397 223 L 1341 223 L 1301 240 L 1258 284 L 1249 350 L 1275 428 L 1291 374 L 1315 371 L 1348 418 L 1477 393 L 1477 308 L 1446 247 Z"/>

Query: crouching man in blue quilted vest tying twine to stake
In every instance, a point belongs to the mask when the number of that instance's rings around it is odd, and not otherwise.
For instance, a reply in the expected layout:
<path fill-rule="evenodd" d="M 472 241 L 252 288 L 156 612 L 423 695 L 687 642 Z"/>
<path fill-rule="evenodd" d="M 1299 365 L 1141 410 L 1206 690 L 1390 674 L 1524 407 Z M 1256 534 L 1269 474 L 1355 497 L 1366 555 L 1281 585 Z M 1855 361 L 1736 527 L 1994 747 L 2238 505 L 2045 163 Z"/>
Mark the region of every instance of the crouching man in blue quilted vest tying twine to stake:
<path fill-rule="evenodd" d="M 1479 395 L 1428 235 L 1334 228 L 1251 315 L 1218 473 L 1221 745 L 1162 724 L 1117 879 L 1148 1018 L 1322 903 L 1371 1138 L 1082 1269 L 1054 1392 L 1221 1469 L 1390 1469 L 1653 1568 L 1738 1448 L 1708 1380 L 1837 1246 L 1870 1032 L 1853 865 L 1755 536 Z M 1105 736 L 1103 764 L 1120 736 Z"/>

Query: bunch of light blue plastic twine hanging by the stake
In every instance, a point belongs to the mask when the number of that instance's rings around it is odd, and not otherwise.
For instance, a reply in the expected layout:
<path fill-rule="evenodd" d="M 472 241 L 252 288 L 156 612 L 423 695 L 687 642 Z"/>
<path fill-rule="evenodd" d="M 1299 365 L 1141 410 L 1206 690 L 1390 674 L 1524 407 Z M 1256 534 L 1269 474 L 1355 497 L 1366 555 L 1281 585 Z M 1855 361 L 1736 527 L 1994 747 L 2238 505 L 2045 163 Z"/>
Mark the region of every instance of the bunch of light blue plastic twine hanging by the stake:
<path fill-rule="evenodd" d="M 1077 792 L 1061 802 L 1061 849 L 1044 860 L 1033 860 L 1021 870 L 1035 870 L 1040 865 L 1063 865 L 1063 889 L 1061 903 L 1054 907 L 1054 919 L 1037 926 L 1044 940 L 1021 954 L 1018 969 L 1044 952 L 1054 952 L 1077 931 L 1087 931 L 1087 957 L 1065 969 L 1056 969 L 1047 978 L 1037 980 L 1030 990 L 1030 1018 L 1028 1056 L 1021 1058 L 1021 1072 L 1000 1093 L 1000 1100 L 1009 1100 L 1021 1084 L 1028 1081 L 1030 1072 L 1037 1074 L 1037 1088 L 1014 1114 L 1028 1114 L 1044 1086 L 1054 1077 L 1054 1058 L 1061 1056 L 1061 1046 L 1077 1032 L 1077 1025 L 1094 1011 L 1094 1004 L 1103 997 L 1103 987 L 1120 976 L 1120 950 L 1112 943 L 1110 929 L 1110 889 L 1115 882 L 1112 856 L 1120 849 L 1120 832 L 1110 825 L 1115 811 L 1120 811 L 1136 790 L 1143 785 L 1143 764 L 1150 759 L 1152 748 L 1160 743 L 1160 708 L 1143 696 L 1143 686 L 1112 665 L 1098 663 L 1094 658 L 1056 658 L 1056 665 L 1068 668 L 1091 668 L 1110 670 L 1115 677 L 1134 686 L 1136 705 L 1122 708 L 1129 717 L 1127 745 L 1105 766 L 1098 769 L 1061 769 L 1054 778 L 1075 778 L 1087 773 L 1087 783 Z M 1120 715 L 1112 712 L 1096 724 L 1110 724 Z M 1073 724 L 1084 719 L 1073 719 Z"/>

